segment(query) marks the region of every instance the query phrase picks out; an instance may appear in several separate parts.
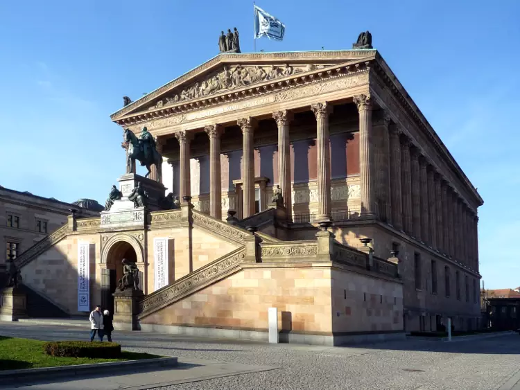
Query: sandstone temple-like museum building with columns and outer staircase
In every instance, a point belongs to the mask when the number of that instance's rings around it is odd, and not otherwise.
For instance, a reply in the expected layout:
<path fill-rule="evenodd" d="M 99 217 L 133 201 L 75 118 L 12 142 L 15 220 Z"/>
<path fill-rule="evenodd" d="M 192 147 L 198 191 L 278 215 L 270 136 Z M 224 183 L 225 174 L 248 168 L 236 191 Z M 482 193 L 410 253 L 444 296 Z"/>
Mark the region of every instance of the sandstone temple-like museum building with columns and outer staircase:
<path fill-rule="evenodd" d="M 127 258 L 141 331 L 267 339 L 269 308 L 311 344 L 478 326 L 483 200 L 378 51 L 220 53 L 111 119 L 163 163 L 121 152 L 123 198 L 17 258 L 63 312 L 114 308 Z"/>

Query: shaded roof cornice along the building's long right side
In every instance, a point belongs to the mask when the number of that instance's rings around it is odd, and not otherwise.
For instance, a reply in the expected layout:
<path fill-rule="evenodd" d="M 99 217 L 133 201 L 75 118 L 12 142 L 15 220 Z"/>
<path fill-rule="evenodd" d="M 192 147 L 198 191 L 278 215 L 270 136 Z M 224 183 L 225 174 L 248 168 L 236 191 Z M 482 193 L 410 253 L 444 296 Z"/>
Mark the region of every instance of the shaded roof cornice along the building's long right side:
<path fill-rule="evenodd" d="M 386 64 L 385 60 L 383 60 L 383 57 L 381 57 L 379 53 L 376 53 L 376 61 L 373 69 L 376 74 L 381 77 L 383 82 L 385 82 L 386 87 L 389 87 L 390 91 L 392 91 L 392 94 L 397 97 L 399 103 L 401 103 L 402 107 L 404 107 L 406 110 L 406 113 L 410 116 L 410 118 L 412 118 L 417 127 L 422 130 L 424 135 L 426 135 L 428 141 L 430 141 L 437 152 L 439 152 L 440 155 L 444 157 L 444 160 L 448 163 L 453 172 L 456 173 L 458 179 L 460 179 L 460 181 L 465 184 L 471 195 L 475 197 L 478 205 L 481 206 L 484 203 L 484 200 L 482 197 L 480 197 L 476 191 L 476 188 L 473 186 L 473 184 L 471 184 L 471 181 L 469 181 L 465 173 L 462 171 L 462 168 L 460 168 L 456 160 L 453 159 L 453 156 L 449 152 L 446 145 L 444 145 L 444 143 L 441 141 L 440 137 L 437 135 L 435 130 L 433 130 L 433 127 L 430 125 L 430 123 L 428 123 L 419 107 L 417 107 L 412 98 L 410 98 L 410 95 L 408 95 L 406 89 L 404 89 L 395 74 L 392 72 L 390 67 L 388 67 L 388 64 Z"/>

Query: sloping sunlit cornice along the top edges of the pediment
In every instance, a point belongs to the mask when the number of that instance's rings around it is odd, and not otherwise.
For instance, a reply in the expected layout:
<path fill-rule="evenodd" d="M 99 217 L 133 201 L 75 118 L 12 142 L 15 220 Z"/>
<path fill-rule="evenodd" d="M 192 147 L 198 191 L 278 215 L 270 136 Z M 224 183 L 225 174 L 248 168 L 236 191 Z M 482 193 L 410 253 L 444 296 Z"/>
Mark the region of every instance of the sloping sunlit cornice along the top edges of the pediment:
<path fill-rule="evenodd" d="M 248 64 L 251 61 L 270 61 L 268 64 L 279 64 L 286 61 L 291 62 L 306 62 L 309 60 L 319 61 L 356 61 L 364 58 L 373 59 L 376 56 L 375 50 L 345 50 L 345 51 L 304 51 L 304 52 L 280 52 L 280 53 L 229 53 L 219 54 L 211 60 L 201 64 L 200 66 L 184 73 L 182 76 L 175 78 L 171 82 L 166 83 L 162 87 L 155 89 L 146 96 L 135 100 L 129 105 L 119 109 L 110 116 L 112 121 L 119 121 L 133 110 L 146 105 L 151 100 L 157 98 L 166 91 L 174 89 L 182 85 L 183 82 L 200 76 L 205 71 L 211 68 L 218 67 L 218 65 L 234 65 L 234 64 Z M 278 80 L 277 80 L 278 81 Z M 185 102 L 183 102 L 185 103 Z"/>

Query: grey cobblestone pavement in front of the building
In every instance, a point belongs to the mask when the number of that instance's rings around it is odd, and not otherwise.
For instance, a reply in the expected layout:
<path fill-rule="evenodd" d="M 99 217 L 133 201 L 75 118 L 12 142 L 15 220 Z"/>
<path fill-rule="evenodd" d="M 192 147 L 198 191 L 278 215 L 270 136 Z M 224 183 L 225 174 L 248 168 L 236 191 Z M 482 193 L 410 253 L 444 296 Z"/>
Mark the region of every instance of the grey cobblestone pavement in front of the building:
<path fill-rule="evenodd" d="M 0 324 L 1 335 L 85 339 L 87 330 Z M 116 332 L 128 351 L 175 355 L 281 369 L 232 375 L 154 390 L 356 389 L 496 390 L 520 370 L 520 337 L 469 342 L 406 341 L 358 347 L 268 345 Z"/>

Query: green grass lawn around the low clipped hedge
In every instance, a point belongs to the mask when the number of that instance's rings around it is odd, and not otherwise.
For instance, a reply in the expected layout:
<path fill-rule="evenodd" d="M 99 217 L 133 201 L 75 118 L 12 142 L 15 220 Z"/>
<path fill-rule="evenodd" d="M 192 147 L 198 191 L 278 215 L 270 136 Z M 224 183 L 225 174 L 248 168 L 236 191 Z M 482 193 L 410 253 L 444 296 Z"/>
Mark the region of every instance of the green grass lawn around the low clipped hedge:
<path fill-rule="evenodd" d="M 89 357 L 54 357 L 44 353 L 45 342 L 29 339 L 15 339 L 0 336 L 0 370 L 37 369 L 39 367 L 71 366 L 121 362 L 123 360 L 152 359 L 161 357 L 148 353 L 122 351 L 119 359 L 91 359 Z"/>

